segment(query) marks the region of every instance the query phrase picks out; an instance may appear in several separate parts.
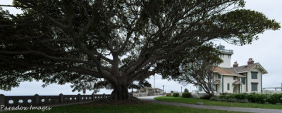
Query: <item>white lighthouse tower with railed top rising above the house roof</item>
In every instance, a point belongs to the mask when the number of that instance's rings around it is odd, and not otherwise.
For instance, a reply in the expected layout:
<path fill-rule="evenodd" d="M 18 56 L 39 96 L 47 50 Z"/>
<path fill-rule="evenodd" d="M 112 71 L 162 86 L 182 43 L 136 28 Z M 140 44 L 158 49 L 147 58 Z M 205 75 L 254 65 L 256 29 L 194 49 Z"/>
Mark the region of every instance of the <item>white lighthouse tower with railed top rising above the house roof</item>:
<path fill-rule="evenodd" d="M 220 51 L 219 58 L 223 60 L 223 62 L 219 65 L 219 67 L 230 68 L 231 67 L 231 55 L 233 55 L 233 50 L 225 49 L 225 46 L 219 44 L 217 49 Z"/>

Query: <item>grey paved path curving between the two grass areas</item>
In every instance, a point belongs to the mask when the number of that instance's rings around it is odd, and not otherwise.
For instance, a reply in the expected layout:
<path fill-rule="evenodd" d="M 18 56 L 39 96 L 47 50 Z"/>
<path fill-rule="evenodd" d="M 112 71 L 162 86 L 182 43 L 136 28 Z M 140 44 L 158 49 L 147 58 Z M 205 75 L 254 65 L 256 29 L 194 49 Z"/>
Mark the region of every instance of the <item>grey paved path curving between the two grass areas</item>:
<path fill-rule="evenodd" d="M 145 100 L 145 101 L 154 102 L 154 103 L 163 104 L 163 105 L 176 105 L 176 106 L 195 107 L 195 108 L 202 108 L 202 109 L 218 109 L 218 110 L 235 111 L 235 112 L 282 113 L 282 109 L 261 109 L 261 108 L 246 108 L 246 107 L 220 107 L 220 106 L 214 106 L 214 105 L 193 105 L 193 104 L 164 102 L 164 101 L 154 100 L 155 97 L 157 96 L 140 97 L 140 100 Z"/>

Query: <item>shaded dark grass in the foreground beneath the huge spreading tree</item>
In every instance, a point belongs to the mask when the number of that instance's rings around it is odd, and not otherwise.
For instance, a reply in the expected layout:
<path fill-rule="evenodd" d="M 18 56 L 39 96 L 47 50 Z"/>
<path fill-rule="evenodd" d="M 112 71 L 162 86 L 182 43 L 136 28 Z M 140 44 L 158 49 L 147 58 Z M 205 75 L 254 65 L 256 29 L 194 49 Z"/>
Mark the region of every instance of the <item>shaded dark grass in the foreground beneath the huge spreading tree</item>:
<path fill-rule="evenodd" d="M 41 112 L 39 110 L 21 110 L 21 111 L 10 111 L 8 113 L 37 113 Z M 44 113 L 190 113 L 190 112 L 228 112 L 221 110 L 212 110 L 212 109 L 198 109 L 191 107 L 178 107 L 170 105 L 159 105 L 159 104 L 145 104 L 145 105 L 99 105 L 99 106 L 85 106 L 85 105 L 67 105 L 61 107 L 52 107 L 51 110 L 45 111 Z"/>

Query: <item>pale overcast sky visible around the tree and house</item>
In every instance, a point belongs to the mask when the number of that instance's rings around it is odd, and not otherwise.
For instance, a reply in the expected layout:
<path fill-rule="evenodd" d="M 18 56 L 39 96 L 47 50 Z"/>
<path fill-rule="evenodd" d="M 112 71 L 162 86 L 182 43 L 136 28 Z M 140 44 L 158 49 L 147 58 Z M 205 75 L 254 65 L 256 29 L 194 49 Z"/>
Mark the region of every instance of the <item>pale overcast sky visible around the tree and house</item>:
<path fill-rule="evenodd" d="M 262 12 L 269 19 L 275 19 L 276 22 L 282 23 L 282 1 L 281 0 L 245 0 L 245 8 Z M 0 0 L 0 4 L 11 4 L 12 0 Z M 6 8 L 11 13 L 20 13 L 20 11 L 14 8 Z M 253 58 L 255 62 L 259 62 L 264 69 L 266 69 L 268 74 L 264 74 L 262 77 L 262 87 L 272 87 L 281 86 L 282 84 L 282 29 L 276 31 L 266 31 L 263 34 L 259 34 L 259 40 L 253 41 L 250 45 L 245 46 L 234 46 L 227 44 L 225 41 L 216 40 L 215 44 L 222 44 L 226 46 L 226 49 L 232 49 L 234 54 L 231 56 L 231 65 L 233 62 L 237 61 L 239 66 L 246 65 L 249 58 Z M 164 90 L 168 91 L 179 91 L 182 85 L 175 81 L 167 81 L 161 79 L 161 76 L 155 76 L 155 86 L 157 88 L 162 88 L 164 85 Z M 149 82 L 153 85 L 153 79 L 151 77 Z M 78 92 L 71 92 L 70 84 L 57 85 L 51 84 L 46 88 L 41 87 L 42 82 L 32 81 L 23 82 L 18 88 L 12 88 L 11 91 L 1 91 L 0 94 L 4 95 L 59 95 L 63 94 L 78 94 Z M 189 90 L 195 90 L 192 85 L 183 86 Z M 86 94 L 91 94 L 92 91 L 87 91 Z M 111 91 L 102 89 L 99 93 L 109 94 Z"/>

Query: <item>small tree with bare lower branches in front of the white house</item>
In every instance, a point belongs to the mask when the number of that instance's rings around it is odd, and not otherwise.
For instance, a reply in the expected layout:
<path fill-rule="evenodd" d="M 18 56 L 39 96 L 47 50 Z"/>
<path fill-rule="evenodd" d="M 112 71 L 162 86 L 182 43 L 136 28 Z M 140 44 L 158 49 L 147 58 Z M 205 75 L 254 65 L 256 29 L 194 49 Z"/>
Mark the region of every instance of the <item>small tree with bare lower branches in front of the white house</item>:
<path fill-rule="evenodd" d="M 213 72 L 216 64 L 222 62 L 218 54 L 219 51 L 213 47 L 212 43 L 197 48 L 197 53 L 194 53 L 197 57 L 192 61 L 183 61 L 180 69 L 181 75 L 176 80 L 182 84 L 190 83 L 202 86 L 204 92 L 209 96 L 214 96 Z"/>

